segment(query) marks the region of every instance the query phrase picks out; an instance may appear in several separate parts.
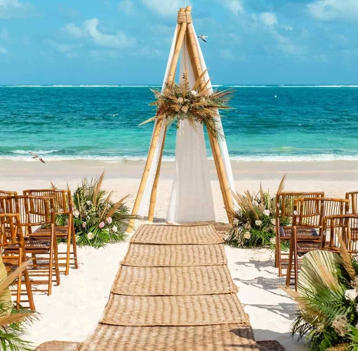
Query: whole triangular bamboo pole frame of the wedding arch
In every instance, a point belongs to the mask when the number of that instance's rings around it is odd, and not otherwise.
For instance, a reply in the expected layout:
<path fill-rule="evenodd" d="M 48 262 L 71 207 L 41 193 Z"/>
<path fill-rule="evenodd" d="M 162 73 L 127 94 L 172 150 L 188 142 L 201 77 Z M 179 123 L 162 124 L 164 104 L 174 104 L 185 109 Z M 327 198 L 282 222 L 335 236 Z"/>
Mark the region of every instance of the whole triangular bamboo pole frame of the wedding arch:
<path fill-rule="evenodd" d="M 180 50 L 183 45 L 183 40 L 187 38 L 187 51 L 190 56 L 190 63 L 192 65 L 192 69 L 194 72 L 194 78 L 198 79 L 202 73 L 203 69 L 201 67 L 201 62 L 199 58 L 199 51 L 197 48 L 197 41 L 194 37 L 193 25 L 192 25 L 192 16 L 191 16 L 192 6 L 187 6 L 186 8 L 180 8 L 178 11 L 178 34 L 175 40 L 175 48 L 173 53 L 173 59 L 171 61 L 171 67 L 168 73 L 167 83 L 173 83 L 175 79 L 175 70 L 178 65 L 178 59 L 180 55 Z M 204 86 L 206 82 L 204 81 L 204 77 L 201 81 L 201 85 Z M 154 152 L 156 150 L 159 135 L 161 132 L 161 126 L 163 124 L 163 119 L 157 120 L 157 123 L 154 126 L 154 132 L 152 136 L 152 142 L 150 144 L 150 150 L 148 152 L 147 161 L 145 163 L 145 169 L 142 174 L 142 179 L 140 181 L 140 187 L 138 189 L 137 197 L 135 198 L 135 203 L 132 210 L 132 215 L 136 216 L 138 214 L 138 209 L 140 206 L 140 201 L 142 201 L 142 195 L 145 190 L 145 185 L 147 183 L 147 179 L 150 173 L 150 167 L 152 166 L 152 161 L 154 157 Z M 161 151 L 159 155 L 159 161 L 157 166 L 157 171 L 154 178 L 154 183 L 152 187 L 152 193 L 150 197 L 150 208 L 148 212 L 148 220 L 153 221 L 154 219 L 154 207 L 157 198 L 157 188 L 159 182 L 159 174 L 161 168 L 161 158 L 163 156 L 164 150 L 164 142 L 166 138 L 166 126 L 164 127 L 164 138 L 163 143 L 161 144 Z M 227 218 L 230 220 L 230 211 L 233 211 L 233 203 L 232 203 L 232 195 L 230 186 L 227 180 L 227 175 L 225 171 L 225 166 L 223 163 L 223 157 L 221 155 L 220 146 L 218 144 L 218 140 L 216 140 L 215 136 L 211 133 L 208 133 L 208 138 L 210 140 L 211 150 L 213 152 L 213 159 L 216 166 L 216 172 L 218 173 L 218 180 L 220 183 L 220 190 L 223 195 L 225 210 L 227 212 Z M 133 230 L 134 220 L 130 220 L 127 228 L 127 232 L 132 232 Z"/>

